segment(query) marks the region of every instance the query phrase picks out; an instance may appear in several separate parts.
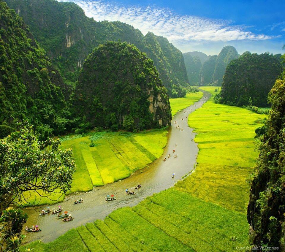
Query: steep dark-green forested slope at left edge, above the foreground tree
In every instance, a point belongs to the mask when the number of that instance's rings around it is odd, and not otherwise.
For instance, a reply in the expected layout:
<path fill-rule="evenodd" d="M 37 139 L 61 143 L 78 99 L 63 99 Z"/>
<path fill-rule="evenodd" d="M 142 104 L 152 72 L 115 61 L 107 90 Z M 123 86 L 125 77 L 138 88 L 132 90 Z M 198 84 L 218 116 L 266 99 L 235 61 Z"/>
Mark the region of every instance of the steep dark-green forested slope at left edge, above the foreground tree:
<path fill-rule="evenodd" d="M 0 137 L 29 120 L 41 137 L 64 131 L 68 94 L 22 18 L 0 2 Z M 66 99 L 68 95 L 66 95 Z"/>

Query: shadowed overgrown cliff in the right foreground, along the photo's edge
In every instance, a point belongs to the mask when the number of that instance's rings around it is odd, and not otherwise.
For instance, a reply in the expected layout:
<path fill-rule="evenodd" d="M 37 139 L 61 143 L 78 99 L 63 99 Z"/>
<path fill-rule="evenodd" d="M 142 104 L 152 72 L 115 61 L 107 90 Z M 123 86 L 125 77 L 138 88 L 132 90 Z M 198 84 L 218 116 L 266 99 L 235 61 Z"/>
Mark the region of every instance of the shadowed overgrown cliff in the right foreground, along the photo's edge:
<path fill-rule="evenodd" d="M 284 56 L 283 56 L 284 58 Z M 269 65 L 267 65 L 269 67 Z M 268 99 L 272 104 L 260 137 L 259 159 L 251 177 L 248 223 L 254 245 L 285 249 L 285 78 L 277 79 Z"/>

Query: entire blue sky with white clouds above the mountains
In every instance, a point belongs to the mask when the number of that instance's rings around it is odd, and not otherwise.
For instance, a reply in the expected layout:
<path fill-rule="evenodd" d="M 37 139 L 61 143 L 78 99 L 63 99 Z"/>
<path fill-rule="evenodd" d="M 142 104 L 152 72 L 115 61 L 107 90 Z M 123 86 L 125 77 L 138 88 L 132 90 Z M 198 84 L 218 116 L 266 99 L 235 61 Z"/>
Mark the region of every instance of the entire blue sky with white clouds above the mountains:
<path fill-rule="evenodd" d="M 120 20 L 143 34 L 151 31 L 183 53 L 213 55 L 225 45 L 235 46 L 240 54 L 285 53 L 285 0 L 73 1 L 95 20 Z"/>

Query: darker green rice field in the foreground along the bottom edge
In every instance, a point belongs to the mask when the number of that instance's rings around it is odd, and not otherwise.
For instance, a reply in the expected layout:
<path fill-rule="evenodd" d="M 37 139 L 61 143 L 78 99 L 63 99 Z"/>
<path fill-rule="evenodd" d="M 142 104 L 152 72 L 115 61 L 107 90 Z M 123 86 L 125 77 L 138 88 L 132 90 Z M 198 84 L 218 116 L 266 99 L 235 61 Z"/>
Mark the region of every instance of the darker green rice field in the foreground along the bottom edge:
<path fill-rule="evenodd" d="M 115 210 L 59 237 L 30 243 L 35 251 L 235 251 L 248 245 L 246 216 L 205 202 L 175 188 L 148 197 L 135 207 Z"/>

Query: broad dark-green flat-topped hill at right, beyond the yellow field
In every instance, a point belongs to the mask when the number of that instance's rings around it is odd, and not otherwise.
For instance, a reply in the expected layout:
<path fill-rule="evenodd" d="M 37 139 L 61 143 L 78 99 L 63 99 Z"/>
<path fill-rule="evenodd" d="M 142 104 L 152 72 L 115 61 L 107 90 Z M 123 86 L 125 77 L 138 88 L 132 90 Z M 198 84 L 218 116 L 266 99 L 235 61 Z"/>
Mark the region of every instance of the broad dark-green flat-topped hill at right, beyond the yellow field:
<path fill-rule="evenodd" d="M 282 69 L 273 55 L 243 53 L 227 66 L 220 96 L 215 99 L 228 105 L 266 107 L 267 95 Z"/>

